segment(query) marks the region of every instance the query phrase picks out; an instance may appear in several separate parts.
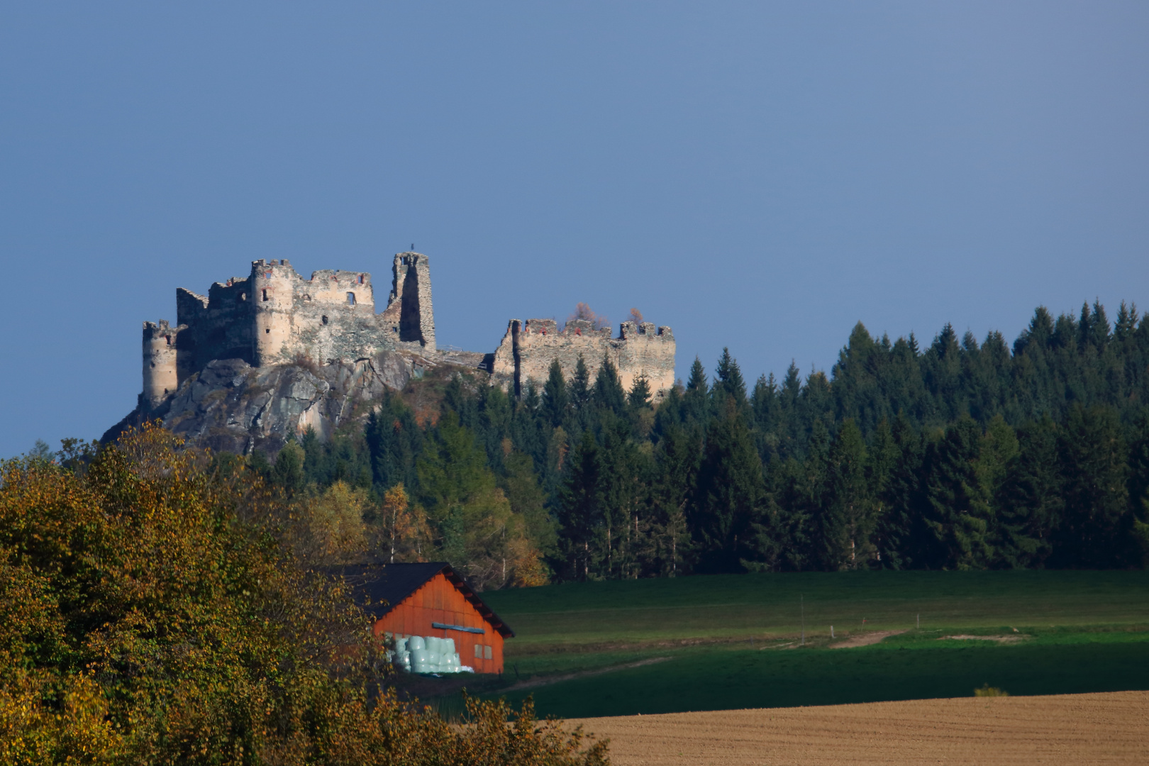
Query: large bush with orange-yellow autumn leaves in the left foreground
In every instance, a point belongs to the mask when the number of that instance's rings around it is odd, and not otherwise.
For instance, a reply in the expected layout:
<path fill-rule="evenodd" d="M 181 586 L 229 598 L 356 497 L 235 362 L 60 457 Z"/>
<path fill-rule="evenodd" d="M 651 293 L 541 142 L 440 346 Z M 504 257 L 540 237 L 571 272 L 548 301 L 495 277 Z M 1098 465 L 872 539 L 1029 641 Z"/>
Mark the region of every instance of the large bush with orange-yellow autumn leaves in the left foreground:
<path fill-rule="evenodd" d="M 83 475 L 0 465 L 0 763 L 607 763 L 530 705 L 452 727 L 380 694 L 368 620 L 295 565 L 288 510 L 210 465 L 154 427 Z"/>

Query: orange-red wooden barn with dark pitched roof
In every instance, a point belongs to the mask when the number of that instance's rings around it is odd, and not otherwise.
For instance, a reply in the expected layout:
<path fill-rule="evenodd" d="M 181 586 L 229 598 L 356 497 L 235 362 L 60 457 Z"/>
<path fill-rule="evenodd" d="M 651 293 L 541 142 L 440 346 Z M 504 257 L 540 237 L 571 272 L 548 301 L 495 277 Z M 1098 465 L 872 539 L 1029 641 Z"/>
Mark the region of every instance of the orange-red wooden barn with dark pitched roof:
<path fill-rule="evenodd" d="M 515 636 L 450 564 L 348 566 L 340 572 L 376 616 L 375 633 L 454 639 L 463 665 L 502 673 L 502 647 Z"/>

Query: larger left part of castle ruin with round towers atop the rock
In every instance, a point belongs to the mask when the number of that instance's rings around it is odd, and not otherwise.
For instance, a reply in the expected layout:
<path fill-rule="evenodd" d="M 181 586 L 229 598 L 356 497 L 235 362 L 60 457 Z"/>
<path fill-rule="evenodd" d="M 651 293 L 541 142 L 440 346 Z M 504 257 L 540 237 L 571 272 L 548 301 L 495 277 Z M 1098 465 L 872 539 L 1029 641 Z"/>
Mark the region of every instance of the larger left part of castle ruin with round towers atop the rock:
<path fill-rule="evenodd" d="M 142 397 L 152 408 L 216 359 L 324 365 L 404 347 L 435 350 L 430 263 L 422 253 L 395 255 L 381 314 L 371 274 L 325 270 L 303 279 L 284 258 L 253 261 L 248 277 L 216 283 L 206 296 L 178 288 L 176 322 L 144 323 Z"/>

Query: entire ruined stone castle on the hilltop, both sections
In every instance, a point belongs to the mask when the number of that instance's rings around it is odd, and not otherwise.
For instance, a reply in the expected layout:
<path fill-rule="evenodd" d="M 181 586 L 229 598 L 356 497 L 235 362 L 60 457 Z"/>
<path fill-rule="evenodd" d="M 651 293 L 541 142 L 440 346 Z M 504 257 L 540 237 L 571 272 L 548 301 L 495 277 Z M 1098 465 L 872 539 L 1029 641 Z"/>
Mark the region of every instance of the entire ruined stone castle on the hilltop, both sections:
<path fill-rule="evenodd" d="M 511 319 L 493 354 L 440 351 L 430 260 L 408 252 L 394 257 L 391 292 L 379 314 L 371 274 L 324 270 L 303 279 L 286 258 L 253 261 L 247 277 L 215 283 L 206 296 L 178 288 L 176 325 L 144 323 L 140 408 L 169 408 L 164 403 L 184 382 L 211 363 L 254 369 L 357 365 L 385 351 L 406 353 L 412 371 L 438 363 L 485 370 L 493 385 L 516 396 L 532 380 L 541 387 L 554 361 L 573 378 L 579 356 L 592 379 L 609 359 L 627 390 L 645 378 L 658 399 L 674 385 L 674 335 L 648 322 L 624 322 L 614 338 L 609 328 L 584 319 L 562 330 L 554 319 Z"/>

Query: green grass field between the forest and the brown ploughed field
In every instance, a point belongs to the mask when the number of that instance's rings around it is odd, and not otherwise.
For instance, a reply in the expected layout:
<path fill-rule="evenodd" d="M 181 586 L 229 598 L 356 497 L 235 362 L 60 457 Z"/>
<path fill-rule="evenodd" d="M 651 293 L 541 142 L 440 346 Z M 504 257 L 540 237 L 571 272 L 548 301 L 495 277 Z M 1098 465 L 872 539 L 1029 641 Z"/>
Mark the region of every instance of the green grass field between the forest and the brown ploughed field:
<path fill-rule="evenodd" d="M 483 597 L 517 635 L 501 683 L 477 686 L 564 718 L 970 696 L 984 683 L 1149 689 L 1149 572 L 715 575 Z M 830 649 L 831 625 L 838 641 L 905 633 Z"/>

